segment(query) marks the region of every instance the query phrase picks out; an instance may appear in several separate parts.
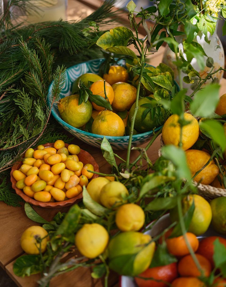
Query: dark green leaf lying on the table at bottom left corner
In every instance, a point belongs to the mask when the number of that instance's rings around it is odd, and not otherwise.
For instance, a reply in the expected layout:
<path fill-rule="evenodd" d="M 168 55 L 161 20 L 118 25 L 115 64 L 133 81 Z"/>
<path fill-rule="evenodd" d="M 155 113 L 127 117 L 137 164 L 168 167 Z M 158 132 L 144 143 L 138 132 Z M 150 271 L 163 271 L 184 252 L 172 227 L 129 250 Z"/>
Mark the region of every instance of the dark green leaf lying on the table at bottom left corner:
<path fill-rule="evenodd" d="M 16 276 L 24 277 L 38 274 L 43 271 L 40 255 L 23 255 L 13 264 L 13 272 Z"/>

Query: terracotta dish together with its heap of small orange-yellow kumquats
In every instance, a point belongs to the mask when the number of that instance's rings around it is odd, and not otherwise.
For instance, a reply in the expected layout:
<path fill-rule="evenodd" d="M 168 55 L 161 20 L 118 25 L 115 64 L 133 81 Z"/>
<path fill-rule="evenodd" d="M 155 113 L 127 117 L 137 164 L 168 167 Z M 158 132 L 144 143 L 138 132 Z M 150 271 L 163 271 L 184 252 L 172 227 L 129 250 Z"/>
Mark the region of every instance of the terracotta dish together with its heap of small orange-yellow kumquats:
<path fill-rule="evenodd" d="M 11 183 L 26 202 L 46 208 L 67 206 L 82 198 L 82 187 L 98 177 L 94 158 L 62 140 L 28 148 L 13 165 Z"/>

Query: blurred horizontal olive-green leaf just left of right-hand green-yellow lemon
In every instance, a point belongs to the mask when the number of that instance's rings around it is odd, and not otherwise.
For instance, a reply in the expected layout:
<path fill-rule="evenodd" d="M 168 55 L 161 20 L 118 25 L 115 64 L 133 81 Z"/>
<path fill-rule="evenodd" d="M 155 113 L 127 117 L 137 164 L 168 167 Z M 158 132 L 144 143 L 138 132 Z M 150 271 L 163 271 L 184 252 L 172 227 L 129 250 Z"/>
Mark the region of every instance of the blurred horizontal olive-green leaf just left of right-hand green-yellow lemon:
<path fill-rule="evenodd" d="M 145 207 L 145 211 L 172 209 L 177 205 L 177 197 L 157 197 Z"/>

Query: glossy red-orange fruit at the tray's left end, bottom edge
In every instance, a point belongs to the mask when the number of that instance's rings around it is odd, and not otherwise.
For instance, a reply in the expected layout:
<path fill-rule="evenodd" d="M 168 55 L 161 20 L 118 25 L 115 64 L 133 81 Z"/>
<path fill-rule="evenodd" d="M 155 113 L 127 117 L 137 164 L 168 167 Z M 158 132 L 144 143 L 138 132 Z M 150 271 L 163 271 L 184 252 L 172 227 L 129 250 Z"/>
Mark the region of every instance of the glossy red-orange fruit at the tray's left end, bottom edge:
<path fill-rule="evenodd" d="M 153 278 L 155 280 L 171 283 L 178 277 L 177 264 L 171 263 L 165 266 L 148 268 L 143 273 L 139 274 L 140 277 Z M 138 287 L 167 287 L 164 282 L 157 282 L 155 280 L 145 280 L 135 277 Z"/>

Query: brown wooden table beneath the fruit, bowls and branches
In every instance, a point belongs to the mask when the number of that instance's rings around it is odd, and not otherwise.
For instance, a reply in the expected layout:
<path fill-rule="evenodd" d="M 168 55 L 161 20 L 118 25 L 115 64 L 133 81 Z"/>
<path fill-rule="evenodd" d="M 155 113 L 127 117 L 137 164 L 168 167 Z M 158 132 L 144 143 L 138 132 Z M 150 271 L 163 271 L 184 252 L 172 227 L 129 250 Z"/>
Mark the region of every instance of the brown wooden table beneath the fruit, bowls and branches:
<path fill-rule="evenodd" d="M 86 0 L 87 1 L 87 0 Z M 84 2 L 84 1 L 82 1 Z M 94 1 L 95 2 L 95 1 Z M 81 15 L 77 12 L 77 19 L 83 16 L 86 16 L 87 13 L 92 13 L 93 9 L 90 7 L 84 6 L 79 1 L 70 0 L 69 4 L 74 8 L 76 7 L 75 11 L 81 11 Z M 79 6 L 80 5 L 80 6 Z M 83 5 L 83 6 L 82 6 Z M 73 9 L 74 9 L 73 8 Z M 81 8 L 81 9 L 80 9 Z M 79 10 L 80 9 L 80 10 Z M 82 15 L 84 14 L 84 15 Z M 69 18 L 73 18 L 75 13 L 70 12 Z M 162 59 L 164 53 L 164 47 L 161 47 L 157 53 L 150 57 L 150 64 L 153 66 L 157 66 Z M 224 94 L 226 90 L 226 79 L 221 80 L 221 91 L 220 94 Z M 83 142 L 74 139 L 73 143 L 82 145 L 84 150 L 87 150 L 89 153 L 93 155 L 97 163 L 100 167 L 100 172 L 108 173 L 110 172 L 110 166 L 105 161 L 102 156 L 102 152 L 98 148 L 94 148 Z M 143 145 L 142 147 L 145 147 Z M 151 148 L 148 150 L 149 158 L 154 162 L 158 158 L 158 149 L 160 147 L 160 136 L 155 140 Z M 126 158 L 126 151 L 119 151 L 117 154 L 122 157 Z M 131 161 L 135 159 L 138 155 L 137 151 L 131 152 Z M 55 214 L 58 211 L 67 212 L 69 207 L 67 208 L 60 208 L 60 209 L 47 209 L 47 208 L 38 208 L 34 207 L 36 212 L 44 217 L 46 220 L 52 220 Z M 0 202 L 0 222 L 1 222 L 1 252 L 0 252 L 0 266 L 5 269 L 7 274 L 16 282 L 16 284 L 20 287 L 37 287 L 36 280 L 40 278 L 39 275 L 32 275 L 30 277 L 17 277 L 13 273 L 13 263 L 16 258 L 21 256 L 24 252 L 20 247 L 20 237 L 22 232 L 26 228 L 31 225 L 37 225 L 32 220 L 28 219 L 25 212 L 24 212 L 24 205 L 22 207 L 10 207 L 7 206 L 5 203 Z M 51 280 L 50 287 L 57 286 L 57 287 L 101 287 L 104 286 L 102 280 L 96 280 L 91 278 L 90 276 L 91 270 L 86 268 L 79 268 L 69 273 L 65 273 L 61 276 L 55 277 Z M 109 287 L 118 286 L 118 276 L 112 274 L 110 276 L 110 284 Z"/>

